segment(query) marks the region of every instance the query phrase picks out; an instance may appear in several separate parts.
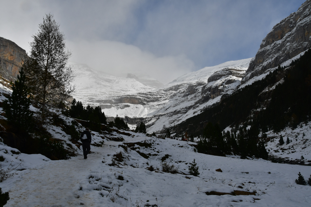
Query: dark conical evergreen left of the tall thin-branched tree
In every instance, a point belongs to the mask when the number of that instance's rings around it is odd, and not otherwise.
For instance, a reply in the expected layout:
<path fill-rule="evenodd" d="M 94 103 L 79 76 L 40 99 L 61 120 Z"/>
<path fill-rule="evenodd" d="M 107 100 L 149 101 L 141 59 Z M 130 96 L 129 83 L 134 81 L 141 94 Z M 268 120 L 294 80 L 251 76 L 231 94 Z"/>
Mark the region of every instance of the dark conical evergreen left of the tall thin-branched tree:
<path fill-rule="evenodd" d="M 17 129 L 28 131 L 31 125 L 33 113 L 30 111 L 30 97 L 28 97 L 26 76 L 21 68 L 20 75 L 17 75 L 15 84 L 12 86 L 12 96 L 4 101 L 3 109 L 7 119 Z"/>

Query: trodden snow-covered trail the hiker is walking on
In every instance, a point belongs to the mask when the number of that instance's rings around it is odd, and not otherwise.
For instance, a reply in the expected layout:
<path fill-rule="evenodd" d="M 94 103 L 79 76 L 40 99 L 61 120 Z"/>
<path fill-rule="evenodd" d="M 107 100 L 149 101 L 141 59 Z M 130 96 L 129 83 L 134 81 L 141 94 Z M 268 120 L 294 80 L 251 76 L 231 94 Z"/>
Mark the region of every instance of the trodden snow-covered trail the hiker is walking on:
<path fill-rule="evenodd" d="M 80 200 L 75 192 L 80 182 L 96 166 L 102 155 L 100 148 L 83 159 L 83 156 L 72 157 L 70 160 L 50 162 L 39 169 L 30 169 L 21 173 L 20 178 L 10 190 L 10 206 L 77 206 Z M 24 188 L 27 186 L 29 188 Z M 88 205 L 89 206 L 89 205 Z"/>

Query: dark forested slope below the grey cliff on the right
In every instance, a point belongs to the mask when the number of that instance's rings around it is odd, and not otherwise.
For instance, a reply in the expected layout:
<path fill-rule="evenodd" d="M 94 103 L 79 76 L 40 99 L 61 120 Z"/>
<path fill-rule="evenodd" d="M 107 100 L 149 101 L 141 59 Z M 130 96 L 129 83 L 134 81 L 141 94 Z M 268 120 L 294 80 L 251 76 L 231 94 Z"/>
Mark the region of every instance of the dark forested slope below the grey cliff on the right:
<path fill-rule="evenodd" d="M 264 79 L 223 95 L 220 103 L 204 110 L 172 129 L 177 135 L 186 130 L 200 136 L 208 122 L 223 130 L 246 123 L 262 132 L 295 128 L 310 120 L 311 50 L 285 67 L 278 67 Z"/>

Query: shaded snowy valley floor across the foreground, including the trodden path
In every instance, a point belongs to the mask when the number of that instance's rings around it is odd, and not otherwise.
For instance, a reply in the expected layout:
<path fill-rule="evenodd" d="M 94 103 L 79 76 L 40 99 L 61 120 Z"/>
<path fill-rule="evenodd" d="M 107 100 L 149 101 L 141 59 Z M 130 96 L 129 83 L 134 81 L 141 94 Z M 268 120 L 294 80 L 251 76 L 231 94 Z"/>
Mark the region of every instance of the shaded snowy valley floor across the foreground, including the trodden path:
<path fill-rule="evenodd" d="M 91 146 L 91 154 L 69 160 L 51 161 L 42 155 L 19 154 L 0 145 L 0 156 L 17 165 L 18 175 L 0 183 L 8 191 L 6 206 L 310 206 L 310 186 L 295 183 L 298 172 L 308 179 L 311 167 L 277 164 L 265 160 L 241 160 L 200 154 L 191 142 L 173 139 L 118 135 L 124 142 L 105 140 L 102 147 Z M 96 140 L 96 139 L 95 139 Z M 141 144 L 137 143 L 141 142 Z M 137 143 L 125 151 L 120 144 Z M 147 144 L 150 147 L 145 147 Z M 145 145 L 145 146 L 143 146 Z M 136 149 L 135 149 L 136 148 Z M 148 159 L 140 154 L 149 155 Z M 115 166 L 114 154 L 123 161 Z M 79 151 L 81 154 L 81 151 Z M 179 168 L 179 173 L 161 172 L 161 158 Z M 142 154 L 143 155 L 143 154 Z M 196 160 L 200 175 L 188 174 L 189 163 Z M 147 167 L 153 166 L 155 171 Z M 222 172 L 216 172 L 216 169 Z M 122 180 L 123 178 L 123 180 Z M 205 192 L 256 192 L 255 195 L 207 196 Z"/>

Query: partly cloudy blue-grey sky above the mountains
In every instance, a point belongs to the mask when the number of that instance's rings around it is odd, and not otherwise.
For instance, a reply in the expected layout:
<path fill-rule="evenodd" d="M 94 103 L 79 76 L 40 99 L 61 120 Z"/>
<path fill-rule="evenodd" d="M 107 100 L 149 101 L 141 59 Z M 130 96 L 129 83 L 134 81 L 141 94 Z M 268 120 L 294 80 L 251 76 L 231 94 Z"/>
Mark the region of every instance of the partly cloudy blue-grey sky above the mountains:
<path fill-rule="evenodd" d="M 0 37 L 30 51 L 53 14 L 70 62 L 166 84 L 226 61 L 254 57 L 262 39 L 304 0 L 0 0 Z M 5 8 L 5 9 L 4 9 Z"/>

